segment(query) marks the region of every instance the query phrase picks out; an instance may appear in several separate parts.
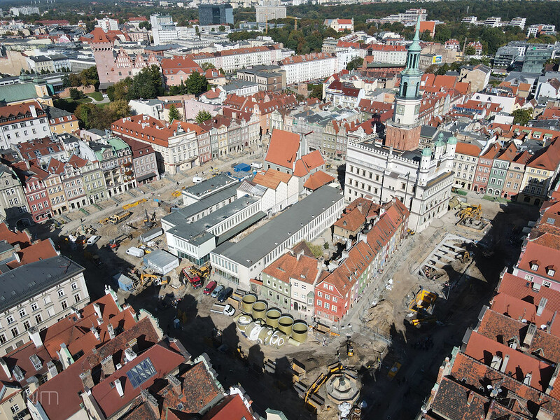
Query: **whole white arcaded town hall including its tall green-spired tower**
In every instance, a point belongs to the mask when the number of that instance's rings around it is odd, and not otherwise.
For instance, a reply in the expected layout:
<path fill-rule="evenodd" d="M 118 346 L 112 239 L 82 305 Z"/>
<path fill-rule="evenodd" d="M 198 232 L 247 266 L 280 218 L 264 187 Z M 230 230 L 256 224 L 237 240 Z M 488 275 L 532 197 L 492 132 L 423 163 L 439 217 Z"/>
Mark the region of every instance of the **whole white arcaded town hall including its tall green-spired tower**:
<path fill-rule="evenodd" d="M 409 228 L 416 231 L 447 212 L 457 144 L 455 137 L 446 140 L 440 134 L 430 147 L 420 146 L 419 41 L 416 25 L 385 139 L 349 139 L 344 183 L 346 203 L 365 197 L 381 204 L 397 197 L 410 211 Z"/>

